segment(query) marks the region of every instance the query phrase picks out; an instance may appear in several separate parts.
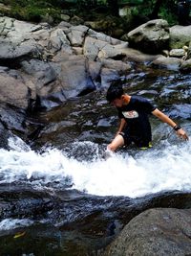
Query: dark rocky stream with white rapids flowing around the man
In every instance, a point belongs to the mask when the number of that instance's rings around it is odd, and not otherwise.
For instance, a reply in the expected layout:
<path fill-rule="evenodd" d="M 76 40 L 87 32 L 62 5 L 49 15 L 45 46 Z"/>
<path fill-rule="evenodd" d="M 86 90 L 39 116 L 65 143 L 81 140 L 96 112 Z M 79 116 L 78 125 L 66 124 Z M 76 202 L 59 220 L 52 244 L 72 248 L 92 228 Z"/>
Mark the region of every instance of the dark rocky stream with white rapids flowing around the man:
<path fill-rule="evenodd" d="M 122 79 L 191 134 L 190 76 L 137 68 Z M 104 88 L 32 118 L 35 140 L 11 134 L 0 149 L 0 255 L 97 255 L 142 210 L 190 207 L 191 140 L 151 117 L 153 148 L 108 154 L 117 112 Z"/>

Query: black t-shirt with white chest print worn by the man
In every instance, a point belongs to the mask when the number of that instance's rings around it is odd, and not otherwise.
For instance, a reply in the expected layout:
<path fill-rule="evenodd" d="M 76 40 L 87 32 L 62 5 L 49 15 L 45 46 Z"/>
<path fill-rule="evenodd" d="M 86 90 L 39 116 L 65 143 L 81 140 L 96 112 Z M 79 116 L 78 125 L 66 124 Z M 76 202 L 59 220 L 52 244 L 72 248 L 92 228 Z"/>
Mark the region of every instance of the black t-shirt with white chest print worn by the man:
<path fill-rule="evenodd" d="M 118 117 L 126 120 L 126 132 L 132 137 L 151 141 L 151 126 L 148 114 L 156 107 L 140 96 L 131 96 L 128 105 L 117 107 Z"/>

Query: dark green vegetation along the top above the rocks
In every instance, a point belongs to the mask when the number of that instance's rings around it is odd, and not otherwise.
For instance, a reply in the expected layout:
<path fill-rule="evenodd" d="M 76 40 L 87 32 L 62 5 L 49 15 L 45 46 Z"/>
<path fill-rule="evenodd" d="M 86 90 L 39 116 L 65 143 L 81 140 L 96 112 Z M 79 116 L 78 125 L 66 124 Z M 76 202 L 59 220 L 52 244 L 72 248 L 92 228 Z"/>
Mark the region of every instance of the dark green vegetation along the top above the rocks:
<path fill-rule="evenodd" d="M 33 22 L 57 23 L 64 13 L 85 21 L 112 17 L 116 26 L 122 23 L 126 30 L 154 18 L 164 18 L 170 25 L 178 23 L 177 0 L 0 0 L 0 3 L 11 7 L 9 11 L 5 9 L 4 14 Z M 118 9 L 124 5 L 130 12 L 121 18 Z"/>

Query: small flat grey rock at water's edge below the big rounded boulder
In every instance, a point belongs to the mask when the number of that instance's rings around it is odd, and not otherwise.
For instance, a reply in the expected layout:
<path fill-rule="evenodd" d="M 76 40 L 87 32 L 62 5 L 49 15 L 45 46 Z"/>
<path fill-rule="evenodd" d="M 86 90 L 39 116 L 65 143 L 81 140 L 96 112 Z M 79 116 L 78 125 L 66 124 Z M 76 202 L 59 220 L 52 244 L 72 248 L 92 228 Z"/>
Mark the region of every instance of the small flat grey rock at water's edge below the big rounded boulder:
<path fill-rule="evenodd" d="M 182 60 L 180 58 L 166 58 L 164 56 L 156 58 L 150 65 L 167 68 L 169 70 L 179 70 Z"/>

